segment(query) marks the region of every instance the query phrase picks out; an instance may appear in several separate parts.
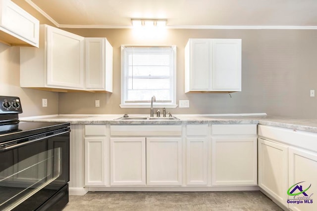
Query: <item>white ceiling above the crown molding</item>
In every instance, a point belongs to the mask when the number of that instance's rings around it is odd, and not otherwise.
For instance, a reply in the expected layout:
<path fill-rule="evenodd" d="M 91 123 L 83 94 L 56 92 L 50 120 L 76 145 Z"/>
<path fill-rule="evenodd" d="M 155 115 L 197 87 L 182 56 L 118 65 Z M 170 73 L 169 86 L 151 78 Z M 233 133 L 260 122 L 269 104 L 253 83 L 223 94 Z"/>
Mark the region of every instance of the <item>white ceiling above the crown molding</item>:
<path fill-rule="evenodd" d="M 129 28 L 131 18 L 167 19 L 170 28 L 317 27 L 317 0 L 26 1 L 65 28 Z"/>

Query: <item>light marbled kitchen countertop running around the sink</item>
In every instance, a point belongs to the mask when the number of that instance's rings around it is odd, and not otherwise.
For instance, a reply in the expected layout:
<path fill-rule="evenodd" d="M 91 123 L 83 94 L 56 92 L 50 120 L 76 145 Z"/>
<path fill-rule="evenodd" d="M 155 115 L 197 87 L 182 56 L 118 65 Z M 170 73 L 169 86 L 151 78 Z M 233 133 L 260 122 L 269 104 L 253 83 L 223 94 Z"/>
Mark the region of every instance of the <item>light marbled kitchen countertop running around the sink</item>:
<path fill-rule="evenodd" d="M 70 124 L 111 124 L 111 125 L 179 125 L 179 124 L 260 124 L 317 132 L 317 119 L 295 119 L 265 114 L 231 115 L 181 115 L 180 120 L 115 120 L 123 115 L 50 115 L 20 118 L 28 122 L 69 122 Z M 148 115 L 129 115 L 144 117 Z"/>

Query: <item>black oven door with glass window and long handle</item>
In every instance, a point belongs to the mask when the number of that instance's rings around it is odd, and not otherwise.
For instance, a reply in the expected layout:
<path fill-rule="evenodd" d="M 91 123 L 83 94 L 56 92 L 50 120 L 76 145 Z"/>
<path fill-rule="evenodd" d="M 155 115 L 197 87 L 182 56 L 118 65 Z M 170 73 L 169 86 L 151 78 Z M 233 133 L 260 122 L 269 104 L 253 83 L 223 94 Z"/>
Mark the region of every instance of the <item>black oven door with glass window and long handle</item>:
<path fill-rule="evenodd" d="M 0 149 L 0 210 L 36 210 L 68 181 L 69 129 L 25 137 Z"/>

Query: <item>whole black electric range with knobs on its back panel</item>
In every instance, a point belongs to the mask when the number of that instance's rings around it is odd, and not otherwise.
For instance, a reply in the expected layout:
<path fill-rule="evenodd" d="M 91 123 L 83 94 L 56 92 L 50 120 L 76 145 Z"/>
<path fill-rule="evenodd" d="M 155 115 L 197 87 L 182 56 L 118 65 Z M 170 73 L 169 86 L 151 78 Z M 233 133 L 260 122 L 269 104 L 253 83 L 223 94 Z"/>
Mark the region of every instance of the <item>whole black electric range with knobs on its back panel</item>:
<path fill-rule="evenodd" d="M 68 203 L 69 123 L 19 121 L 19 97 L 0 96 L 0 210 Z"/>

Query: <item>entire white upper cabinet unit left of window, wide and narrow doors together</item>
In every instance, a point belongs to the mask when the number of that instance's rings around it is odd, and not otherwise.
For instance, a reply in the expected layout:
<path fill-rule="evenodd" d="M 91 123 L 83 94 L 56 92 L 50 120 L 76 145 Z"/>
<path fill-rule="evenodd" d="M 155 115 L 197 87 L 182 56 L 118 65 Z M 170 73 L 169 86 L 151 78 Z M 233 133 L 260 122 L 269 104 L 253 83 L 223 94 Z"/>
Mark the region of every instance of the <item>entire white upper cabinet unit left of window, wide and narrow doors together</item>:
<path fill-rule="evenodd" d="M 84 37 L 48 25 L 40 32 L 40 48 L 20 48 L 21 87 L 112 91 L 112 46 L 105 38 L 87 39 L 85 49 Z"/>

